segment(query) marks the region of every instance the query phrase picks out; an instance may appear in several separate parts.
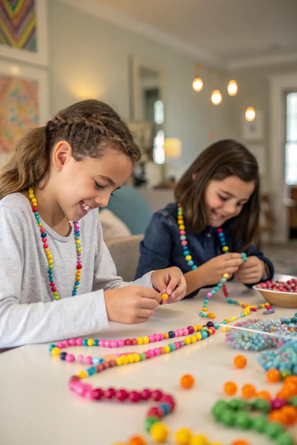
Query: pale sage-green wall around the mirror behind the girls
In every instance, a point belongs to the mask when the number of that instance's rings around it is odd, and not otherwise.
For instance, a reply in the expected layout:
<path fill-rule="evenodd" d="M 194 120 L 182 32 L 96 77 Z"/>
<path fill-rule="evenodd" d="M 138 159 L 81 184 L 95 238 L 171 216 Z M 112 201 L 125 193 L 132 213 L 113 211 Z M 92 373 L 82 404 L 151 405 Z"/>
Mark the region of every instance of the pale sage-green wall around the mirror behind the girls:
<path fill-rule="evenodd" d="M 86 97 L 114 105 L 129 118 L 129 57 L 159 66 L 164 76 L 166 137 L 180 138 L 183 156 L 171 163 L 180 174 L 214 140 L 236 138 L 235 110 L 227 97 L 210 104 L 211 87 L 201 93 L 191 88 L 197 62 L 174 49 L 70 8 L 60 0 L 49 2 L 49 71 L 51 112 Z M 203 68 L 202 68 L 203 71 Z M 227 85 L 226 73 L 204 71 Z M 207 79 L 205 79 L 207 83 Z M 227 83 L 226 83 L 227 82 Z M 173 170 L 173 171 L 172 171 Z"/>

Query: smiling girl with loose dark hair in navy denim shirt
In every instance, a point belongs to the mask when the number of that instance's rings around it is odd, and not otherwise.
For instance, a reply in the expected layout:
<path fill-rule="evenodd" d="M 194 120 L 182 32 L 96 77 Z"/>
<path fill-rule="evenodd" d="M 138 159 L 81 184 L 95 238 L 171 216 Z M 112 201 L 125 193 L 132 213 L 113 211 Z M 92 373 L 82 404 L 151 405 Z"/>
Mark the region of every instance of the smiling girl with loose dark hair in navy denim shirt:
<path fill-rule="evenodd" d="M 272 279 L 273 264 L 252 244 L 259 221 L 259 182 L 256 159 L 243 145 L 224 140 L 209 146 L 180 178 L 175 202 L 153 214 L 140 246 L 136 278 L 178 266 L 188 296 L 215 285 L 225 272 L 248 286 Z M 184 230 L 177 223 L 178 207 Z M 227 253 L 222 252 L 218 228 Z M 186 248 L 181 245 L 185 234 Z M 247 254 L 246 262 L 239 252 Z"/>

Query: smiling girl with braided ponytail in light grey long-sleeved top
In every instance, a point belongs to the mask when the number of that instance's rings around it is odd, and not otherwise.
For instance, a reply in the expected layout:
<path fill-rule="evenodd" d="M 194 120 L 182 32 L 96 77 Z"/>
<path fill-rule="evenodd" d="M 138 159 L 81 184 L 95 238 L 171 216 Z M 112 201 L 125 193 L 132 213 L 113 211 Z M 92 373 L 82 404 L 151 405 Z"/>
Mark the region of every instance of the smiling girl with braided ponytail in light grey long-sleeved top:
<path fill-rule="evenodd" d="M 141 323 L 160 292 L 183 298 L 178 267 L 123 282 L 102 239 L 98 207 L 139 159 L 127 125 L 96 100 L 20 136 L 0 171 L 0 348 Z"/>

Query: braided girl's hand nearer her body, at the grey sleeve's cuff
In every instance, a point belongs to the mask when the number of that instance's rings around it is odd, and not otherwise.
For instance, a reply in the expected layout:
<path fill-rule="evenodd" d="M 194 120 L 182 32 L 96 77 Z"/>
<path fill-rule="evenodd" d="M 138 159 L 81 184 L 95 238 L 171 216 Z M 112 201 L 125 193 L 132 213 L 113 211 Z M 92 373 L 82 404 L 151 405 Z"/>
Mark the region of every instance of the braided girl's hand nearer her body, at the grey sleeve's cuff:
<path fill-rule="evenodd" d="M 127 286 L 104 291 L 108 320 L 118 323 L 144 323 L 155 313 L 161 295 L 154 289 Z"/>

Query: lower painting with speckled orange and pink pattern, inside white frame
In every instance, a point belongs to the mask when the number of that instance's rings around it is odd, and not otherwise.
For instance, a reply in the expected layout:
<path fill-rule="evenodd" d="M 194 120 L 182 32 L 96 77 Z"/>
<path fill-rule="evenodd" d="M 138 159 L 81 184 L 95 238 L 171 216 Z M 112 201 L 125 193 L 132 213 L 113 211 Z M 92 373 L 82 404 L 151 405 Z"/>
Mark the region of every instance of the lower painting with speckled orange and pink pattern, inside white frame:
<path fill-rule="evenodd" d="M 0 75 L 0 152 L 8 152 L 23 129 L 39 125 L 38 81 Z"/>

